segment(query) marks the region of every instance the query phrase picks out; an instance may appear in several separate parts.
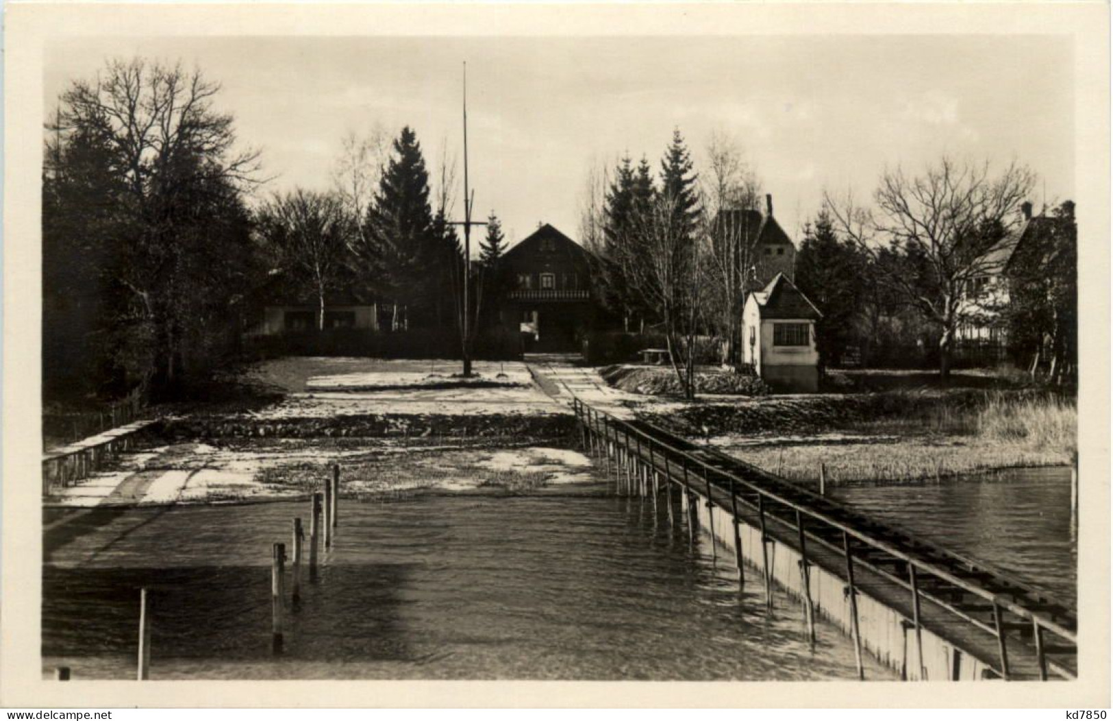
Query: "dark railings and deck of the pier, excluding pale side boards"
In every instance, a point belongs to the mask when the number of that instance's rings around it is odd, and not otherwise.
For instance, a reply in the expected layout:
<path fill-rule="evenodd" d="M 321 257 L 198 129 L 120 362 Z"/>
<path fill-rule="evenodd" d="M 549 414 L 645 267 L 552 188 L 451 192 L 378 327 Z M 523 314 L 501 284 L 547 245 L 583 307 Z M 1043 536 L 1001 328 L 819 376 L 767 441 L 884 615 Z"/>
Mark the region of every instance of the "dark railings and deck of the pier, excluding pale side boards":
<path fill-rule="evenodd" d="M 996 659 L 983 659 L 983 662 L 1002 679 L 1030 675 L 1047 680 L 1048 672 L 1066 679 L 1076 678 L 1076 621 L 1066 604 L 987 569 L 983 564 L 887 527 L 787 479 L 695 446 L 657 427 L 618 419 L 587 406 L 579 398 L 573 398 L 572 409 L 585 447 L 604 456 L 608 464 L 611 459 L 632 456 L 640 464 L 648 464 L 653 474 L 663 474 L 669 481 L 680 484 L 686 491 L 706 495 L 709 504 L 731 513 L 736 543 L 740 506 L 757 513 L 764 542 L 768 520 L 795 526 L 805 565 L 808 563 L 806 538 L 845 556 L 841 576 L 849 584 L 851 597 L 856 593 L 856 563 L 905 588 L 910 594 L 912 617 L 908 621 L 917 637 L 922 627 L 922 602 L 928 600 L 945 608 L 961 624 L 996 639 Z M 697 481 L 702 481 L 702 487 L 698 487 Z M 768 578 L 767 574 L 767 582 Z M 857 626 L 857 617 L 854 623 Z M 1023 643 L 1021 647 L 1014 644 L 1014 652 L 1023 653 L 1011 660 L 1008 636 L 1013 632 L 1020 636 L 1014 641 Z M 1025 636 L 1031 636 L 1031 645 Z M 856 639 L 856 644 L 859 643 Z M 923 654 L 922 647 L 919 653 Z"/>

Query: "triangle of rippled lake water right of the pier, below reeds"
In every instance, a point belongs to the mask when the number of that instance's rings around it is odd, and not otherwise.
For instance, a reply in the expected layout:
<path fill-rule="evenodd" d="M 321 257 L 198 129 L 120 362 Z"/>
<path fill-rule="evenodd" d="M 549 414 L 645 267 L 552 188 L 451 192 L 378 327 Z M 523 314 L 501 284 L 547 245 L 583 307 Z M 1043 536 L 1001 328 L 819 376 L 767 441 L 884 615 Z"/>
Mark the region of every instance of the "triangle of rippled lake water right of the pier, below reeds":
<path fill-rule="evenodd" d="M 859 486 L 831 496 L 1074 604 L 1071 470 L 1016 468 L 953 483 Z"/>

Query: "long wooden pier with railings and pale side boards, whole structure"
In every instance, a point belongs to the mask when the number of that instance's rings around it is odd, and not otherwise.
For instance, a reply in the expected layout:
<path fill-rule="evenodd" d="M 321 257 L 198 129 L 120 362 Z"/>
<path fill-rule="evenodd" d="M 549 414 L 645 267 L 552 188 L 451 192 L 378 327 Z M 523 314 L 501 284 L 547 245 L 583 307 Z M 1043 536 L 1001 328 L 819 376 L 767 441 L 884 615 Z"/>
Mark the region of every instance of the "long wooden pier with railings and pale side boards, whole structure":
<path fill-rule="evenodd" d="M 733 547 L 740 584 L 755 566 L 767 603 L 775 583 L 800 600 L 809 634 L 821 615 L 908 680 L 1077 676 L 1073 604 L 650 423 L 572 409 L 619 493 L 679 496 L 677 518 Z"/>

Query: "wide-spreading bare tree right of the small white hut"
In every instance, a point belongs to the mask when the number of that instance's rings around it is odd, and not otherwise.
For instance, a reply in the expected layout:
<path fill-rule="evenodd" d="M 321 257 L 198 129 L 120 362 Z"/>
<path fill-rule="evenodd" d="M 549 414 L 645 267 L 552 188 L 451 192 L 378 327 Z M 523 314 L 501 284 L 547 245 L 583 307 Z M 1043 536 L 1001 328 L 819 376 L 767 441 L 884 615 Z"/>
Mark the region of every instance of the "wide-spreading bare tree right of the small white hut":
<path fill-rule="evenodd" d="M 875 208 L 856 204 L 850 193 L 825 193 L 825 206 L 847 237 L 875 261 L 883 247 L 900 260 L 876 266 L 892 291 L 939 329 L 943 378 L 956 331 L 981 312 L 964 298 L 967 284 L 993 270 L 986 253 L 1016 223 L 1016 208 L 1034 182 L 1032 170 L 1016 163 L 994 175 L 988 163 L 944 157 L 915 177 L 886 170 L 874 192 Z"/>

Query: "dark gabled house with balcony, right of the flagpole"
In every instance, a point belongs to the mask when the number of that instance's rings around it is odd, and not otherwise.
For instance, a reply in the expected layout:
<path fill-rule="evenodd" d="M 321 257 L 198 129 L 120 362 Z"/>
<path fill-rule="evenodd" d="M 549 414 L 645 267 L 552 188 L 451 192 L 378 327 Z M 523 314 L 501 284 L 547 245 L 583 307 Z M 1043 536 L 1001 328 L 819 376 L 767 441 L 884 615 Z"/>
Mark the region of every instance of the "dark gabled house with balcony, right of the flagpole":
<path fill-rule="evenodd" d="M 499 322 L 521 333 L 525 351 L 573 352 L 591 328 L 588 252 L 545 223 L 499 261 L 506 290 Z"/>

